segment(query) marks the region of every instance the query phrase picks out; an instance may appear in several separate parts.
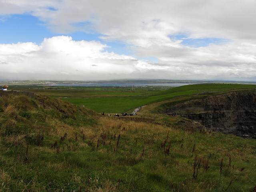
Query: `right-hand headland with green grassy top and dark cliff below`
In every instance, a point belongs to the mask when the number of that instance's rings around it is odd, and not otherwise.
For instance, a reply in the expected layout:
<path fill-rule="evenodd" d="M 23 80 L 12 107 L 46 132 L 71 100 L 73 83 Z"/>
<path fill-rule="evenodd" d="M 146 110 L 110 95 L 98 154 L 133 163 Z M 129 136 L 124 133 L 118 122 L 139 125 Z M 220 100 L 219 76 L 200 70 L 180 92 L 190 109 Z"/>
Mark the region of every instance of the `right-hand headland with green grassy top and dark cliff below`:
<path fill-rule="evenodd" d="M 255 85 L 203 84 L 169 91 L 180 96 L 145 106 L 140 114 L 178 114 L 202 124 L 207 130 L 256 138 Z"/>

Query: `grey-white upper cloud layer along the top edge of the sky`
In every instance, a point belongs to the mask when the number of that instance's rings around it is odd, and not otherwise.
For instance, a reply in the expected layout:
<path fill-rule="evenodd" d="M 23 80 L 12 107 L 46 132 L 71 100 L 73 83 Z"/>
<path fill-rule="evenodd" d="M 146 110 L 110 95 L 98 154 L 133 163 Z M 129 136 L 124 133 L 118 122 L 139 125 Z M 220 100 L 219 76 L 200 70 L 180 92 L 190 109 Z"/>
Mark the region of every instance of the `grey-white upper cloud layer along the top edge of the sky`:
<path fill-rule="evenodd" d="M 128 42 L 165 41 L 181 32 L 197 39 L 254 39 L 255 7 L 254 0 L 0 1 L 2 15 L 31 13 L 56 32 L 97 31 Z"/>

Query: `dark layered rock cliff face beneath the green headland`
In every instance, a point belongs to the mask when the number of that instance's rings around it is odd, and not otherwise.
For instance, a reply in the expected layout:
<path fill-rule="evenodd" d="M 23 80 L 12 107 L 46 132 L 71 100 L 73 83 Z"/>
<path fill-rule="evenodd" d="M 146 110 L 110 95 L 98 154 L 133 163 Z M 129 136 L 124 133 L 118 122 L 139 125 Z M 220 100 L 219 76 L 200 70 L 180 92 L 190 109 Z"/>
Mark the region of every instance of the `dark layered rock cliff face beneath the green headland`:
<path fill-rule="evenodd" d="M 191 100 L 166 109 L 201 123 L 206 129 L 256 138 L 256 94 L 232 92 Z"/>

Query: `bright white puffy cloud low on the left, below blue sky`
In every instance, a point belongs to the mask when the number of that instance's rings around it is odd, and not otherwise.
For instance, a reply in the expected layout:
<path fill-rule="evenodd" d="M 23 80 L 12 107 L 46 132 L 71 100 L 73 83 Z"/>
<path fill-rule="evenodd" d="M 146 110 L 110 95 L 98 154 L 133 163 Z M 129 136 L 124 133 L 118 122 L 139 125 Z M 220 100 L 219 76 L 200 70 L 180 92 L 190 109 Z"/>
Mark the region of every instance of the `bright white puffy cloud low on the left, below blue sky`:
<path fill-rule="evenodd" d="M 95 80 L 134 71 L 136 59 L 104 52 L 106 45 L 96 41 L 74 41 L 70 36 L 45 38 L 34 43 L 0 44 L 6 64 L 2 78 Z M 95 66 L 96 70 L 95 70 Z"/>

